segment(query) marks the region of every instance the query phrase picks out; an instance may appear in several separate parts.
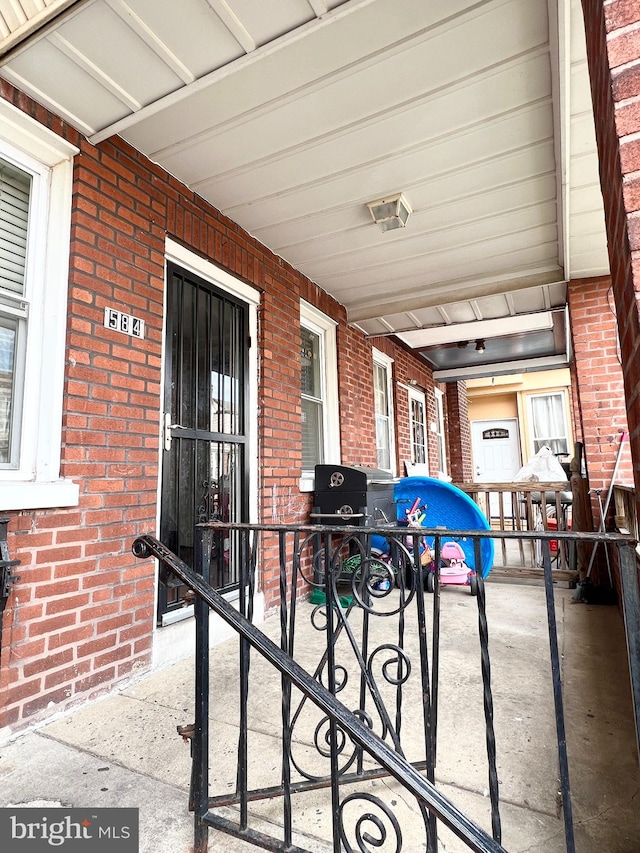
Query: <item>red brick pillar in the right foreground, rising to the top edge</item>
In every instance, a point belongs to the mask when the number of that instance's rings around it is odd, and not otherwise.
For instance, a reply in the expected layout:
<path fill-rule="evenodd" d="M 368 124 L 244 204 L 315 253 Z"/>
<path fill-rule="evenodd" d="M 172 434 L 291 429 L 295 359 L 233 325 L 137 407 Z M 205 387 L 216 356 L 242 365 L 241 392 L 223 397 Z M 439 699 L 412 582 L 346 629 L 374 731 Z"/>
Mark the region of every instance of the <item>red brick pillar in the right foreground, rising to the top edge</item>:
<path fill-rule="evenodd" d="M 636 493 L 640 496 L 640 319 L 637 291 L 640 248 L 640 4 L 630 0 L 583 0 L 587 59 L 596 121 L 600 183 L 604 198 L 612 293 Z M 582 403 L 583 415 L 586 404 Z"/>

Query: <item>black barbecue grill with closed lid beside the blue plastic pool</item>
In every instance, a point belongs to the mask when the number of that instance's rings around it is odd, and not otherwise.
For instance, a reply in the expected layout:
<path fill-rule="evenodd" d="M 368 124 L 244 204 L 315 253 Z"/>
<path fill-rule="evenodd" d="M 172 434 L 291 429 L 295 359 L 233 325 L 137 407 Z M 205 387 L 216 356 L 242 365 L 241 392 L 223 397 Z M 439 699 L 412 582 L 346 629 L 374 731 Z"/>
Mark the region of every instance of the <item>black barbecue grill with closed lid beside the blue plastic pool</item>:
<path fill-rule="evenodd" d="M 316 465 L 311 518 L 319 524 L 394 525 L 396 482 L 380 468 Z"/>

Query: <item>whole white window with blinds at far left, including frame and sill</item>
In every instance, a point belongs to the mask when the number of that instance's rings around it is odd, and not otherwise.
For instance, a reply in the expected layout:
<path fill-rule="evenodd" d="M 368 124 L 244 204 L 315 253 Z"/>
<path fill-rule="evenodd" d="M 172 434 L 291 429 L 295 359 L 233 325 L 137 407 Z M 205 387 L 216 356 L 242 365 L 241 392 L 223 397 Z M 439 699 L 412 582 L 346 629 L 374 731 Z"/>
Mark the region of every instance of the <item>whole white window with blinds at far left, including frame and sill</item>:
<path fill-rule="evenodd" d="M 0 101 L 0 510 L 78 502 L 60 479 L 76 152 Z"/>

